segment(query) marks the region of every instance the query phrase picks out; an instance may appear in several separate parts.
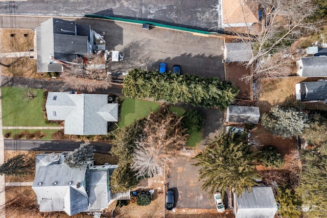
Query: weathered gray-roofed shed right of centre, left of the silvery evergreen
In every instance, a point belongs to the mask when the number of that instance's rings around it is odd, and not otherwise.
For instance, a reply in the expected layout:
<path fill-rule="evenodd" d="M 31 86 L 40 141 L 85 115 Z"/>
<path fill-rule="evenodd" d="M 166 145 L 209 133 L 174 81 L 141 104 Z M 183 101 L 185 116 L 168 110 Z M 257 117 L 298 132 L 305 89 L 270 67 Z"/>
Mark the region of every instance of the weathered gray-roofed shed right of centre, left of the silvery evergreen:
<path fill-rule="evenodd" d="M 259 107 L 229 105 L 226 122 L 258 124 L 260 119 Z"/>

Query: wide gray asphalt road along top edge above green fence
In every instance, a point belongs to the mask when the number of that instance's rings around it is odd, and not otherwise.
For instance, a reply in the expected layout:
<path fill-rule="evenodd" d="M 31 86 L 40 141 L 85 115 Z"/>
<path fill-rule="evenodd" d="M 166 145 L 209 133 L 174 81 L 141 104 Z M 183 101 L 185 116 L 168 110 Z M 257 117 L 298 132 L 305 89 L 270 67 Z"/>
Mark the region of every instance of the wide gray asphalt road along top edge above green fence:
<path fill-rule="evenodd" d="M 184 25 L 193 28 L 221 26 L 219 0 L 29 0 L 1 1 L 0 14 L 74 16 L 101 14 Z M 11 18 L 14 28 L 16 18 Z M 0 20 L 0 28 L 2 21 Z"/>

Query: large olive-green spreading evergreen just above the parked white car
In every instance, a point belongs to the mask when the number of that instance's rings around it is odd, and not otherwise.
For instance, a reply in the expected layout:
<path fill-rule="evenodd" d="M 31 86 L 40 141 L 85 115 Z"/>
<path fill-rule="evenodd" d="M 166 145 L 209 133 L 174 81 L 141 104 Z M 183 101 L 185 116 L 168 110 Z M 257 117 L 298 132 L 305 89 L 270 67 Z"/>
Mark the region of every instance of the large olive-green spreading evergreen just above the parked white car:
<path fill-rule="evenodd" d="M 195 165 L 202 166 L 199 180 L 204 179 L 202 189 L 209 194 L 229 188 L 240 196 L 251 191 L 260 175 L 255 171 L 254 154 L 244 136 L 222 134 L 209 141 L 207 147 L 198 154 Z"/>

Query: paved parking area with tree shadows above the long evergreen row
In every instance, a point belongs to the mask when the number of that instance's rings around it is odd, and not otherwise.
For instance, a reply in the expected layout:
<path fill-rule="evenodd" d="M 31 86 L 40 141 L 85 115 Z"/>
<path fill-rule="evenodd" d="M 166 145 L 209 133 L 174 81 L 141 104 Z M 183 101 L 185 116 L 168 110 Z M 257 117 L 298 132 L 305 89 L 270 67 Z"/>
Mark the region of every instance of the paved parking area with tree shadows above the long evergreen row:
<path fill-rule="evenodd" d="M 165 62 L 168 70 L 174 64 L 181 66 L 181 74 L 225 79 L 221 61 L 223 39 L 158 27 L 144 30 L 142 25 L 119 21 L 80 19 L 77 22 L 91 25 L 104 35 L 109 51 L 124 54 L 122 62 L 107 63 L 107 71 L 112 73 L 127 73 L 132 68 L 153 71 L 160 62 Z"/>

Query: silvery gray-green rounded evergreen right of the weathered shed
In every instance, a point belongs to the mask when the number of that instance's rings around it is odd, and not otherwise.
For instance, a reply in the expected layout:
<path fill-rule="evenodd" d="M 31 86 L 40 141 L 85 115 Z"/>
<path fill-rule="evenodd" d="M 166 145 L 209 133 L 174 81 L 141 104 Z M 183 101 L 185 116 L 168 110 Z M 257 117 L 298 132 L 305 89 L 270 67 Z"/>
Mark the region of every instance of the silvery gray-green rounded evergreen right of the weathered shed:
<path fill-rule="evenodd" d="M 293 107 L 276 105 L 270 109 L 269 114 L 262 115 L 261 125 L 270 133 L 282 136 L 284 139 L 300 135 L 309 126 L 308 121 L 308 115 L 305 113 Z"/>

